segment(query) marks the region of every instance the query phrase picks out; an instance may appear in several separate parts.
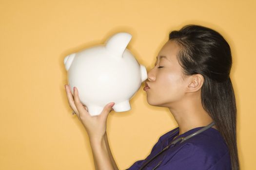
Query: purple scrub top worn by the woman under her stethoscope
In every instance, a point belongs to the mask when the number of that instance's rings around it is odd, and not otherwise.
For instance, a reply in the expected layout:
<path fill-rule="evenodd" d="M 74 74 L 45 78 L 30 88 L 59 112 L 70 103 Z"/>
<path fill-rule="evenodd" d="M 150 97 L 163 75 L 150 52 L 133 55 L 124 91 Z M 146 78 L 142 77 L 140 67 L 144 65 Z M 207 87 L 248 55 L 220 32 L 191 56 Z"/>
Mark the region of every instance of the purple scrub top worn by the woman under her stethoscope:
<path fill-rule="evenodd" d="M 186 137 L 200 128 L 191 129 L 178 137 Z M 177 132 L 175 132 L 177 130 Z M 179 134 L 178 127 L 159 137 L 151 153 L 144 160 L 136 161 L 126 170 L 139 168 L 167 145 L 172 143 Z M 177 137 L 177 138 L 178 138 Z M 177 139 L 175 138 L 175 139 Z M 174 140 L 175 140 L 174 139 Z M 161 163 L 160 163 L 161 162 Z M 160 165 L 158 165 L 160 163 Z M 157 168 L 156 168 L 157 167 Z M 154 169 L 156 168 L 156 169 Z M 158 155 L 143 170 L 231 170 L 231 160 L 224 138 L 217 129 L 209 128 L 184 142 L 171 145 L 166 151 Z"/>

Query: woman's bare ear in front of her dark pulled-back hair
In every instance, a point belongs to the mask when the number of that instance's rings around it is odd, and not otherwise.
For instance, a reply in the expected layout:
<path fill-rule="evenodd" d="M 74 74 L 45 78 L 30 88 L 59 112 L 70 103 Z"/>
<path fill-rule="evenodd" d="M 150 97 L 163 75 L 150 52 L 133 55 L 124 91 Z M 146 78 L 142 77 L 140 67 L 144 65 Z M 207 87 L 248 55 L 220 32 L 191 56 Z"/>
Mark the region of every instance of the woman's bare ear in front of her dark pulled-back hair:
<path fill-rule="evenodd" d="M 189 78 L 189 85 L 187 92 L 195 92 L 200 90 L 204 82 L 204 78 L 201 74 L 194 74 Z"/>

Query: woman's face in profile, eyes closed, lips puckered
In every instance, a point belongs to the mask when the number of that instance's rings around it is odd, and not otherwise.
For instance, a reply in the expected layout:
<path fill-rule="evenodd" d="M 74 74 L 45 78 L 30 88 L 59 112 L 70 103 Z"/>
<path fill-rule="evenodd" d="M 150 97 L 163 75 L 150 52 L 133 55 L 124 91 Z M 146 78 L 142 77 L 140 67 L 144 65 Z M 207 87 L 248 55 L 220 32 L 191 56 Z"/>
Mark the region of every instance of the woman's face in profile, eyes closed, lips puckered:
<path fill-rule="evenodd" d="M 177 62 L 178 51 L 175 41 L 167 41 L 158 53 L 155 67 L 148 72 L 150 88 L 146 92 L 150 105 L 171 107 L 184 96 L 187 82 L 182 79 L 182 70 Z"/>

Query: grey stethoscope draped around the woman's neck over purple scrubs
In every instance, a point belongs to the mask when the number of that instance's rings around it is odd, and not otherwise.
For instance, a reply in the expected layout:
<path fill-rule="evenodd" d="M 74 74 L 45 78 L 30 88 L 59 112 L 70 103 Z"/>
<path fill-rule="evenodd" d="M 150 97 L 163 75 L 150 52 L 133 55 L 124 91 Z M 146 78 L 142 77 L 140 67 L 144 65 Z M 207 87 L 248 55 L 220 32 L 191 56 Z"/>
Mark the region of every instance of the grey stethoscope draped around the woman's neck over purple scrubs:
<path fill-rule="evenodd" d="M 205 130 L 211 128 L 213 125 L 215 125 L 215 122 L 214 122 L 214 121 L 213 121 L 211 124 L 209 124 L 209 125 L 207 125 L 207 126 L 201 128 L 201 129 L 199 129 L 197 132 L 194 132 L 193 134 L 191 134 L 191 135 L 189 135 L 189 136 L 177 138 L 177 139 L 174 140 L 170 145 L 168 145 L 167 147 L 165 147 L 162 151 L 160 151 L 158 154 L 156 154 L 156 155 L 153 156 L 151 159 L 149 159 L 145 164 L 143 164 L 143 165 L 140 167 L 139 170 L 142 170 L 146 165 L 148 165 L 152 160 L 154 160 L 159 154 L 161 154 L 161 153 L 163 153 L 164 151 L 166 151 L 171 145 L 174 145 L 174 146 L 175 146 L 175 144 L 176 144 L 178 141 L 180 141 L 180 140 L 181 140 L 180 143 L 182 143 L 182 142 L 184 142 L 185 140 L 187 140 L 187 139 L 189 139 L 189 138 L 191 138 L 191 137 L 193 137 L 193 136 L 196 136 L 196 135 L 200 134 L 201 132 L 203 132 L 203 131 L 205 131 Z M 173 134 L 176 133 L 177 131 L 178 131 L 178 129 L 177 129 L 175 132 L 173 132 Z M 174 147 L 174 146 L 173 146 L 173 147 Z M 155 168 L 153 168 L 152 170 L 156 170 L 156 169 L 158 168 L 158 166 L 159 166 L 161 163 L 162 163 L 162 160 L 161 160 L 161 161 L 158 163 L 158 165 L 157 165 Z"/>

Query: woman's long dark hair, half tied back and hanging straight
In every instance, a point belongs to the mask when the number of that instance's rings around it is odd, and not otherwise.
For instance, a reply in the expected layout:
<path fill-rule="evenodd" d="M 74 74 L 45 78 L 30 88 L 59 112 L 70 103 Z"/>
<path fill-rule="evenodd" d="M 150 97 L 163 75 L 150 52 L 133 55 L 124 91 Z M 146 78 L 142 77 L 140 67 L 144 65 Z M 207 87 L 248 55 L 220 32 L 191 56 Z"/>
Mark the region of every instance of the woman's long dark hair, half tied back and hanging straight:
<path fill-rule="evenodd" d="M 239 170 L 236 98 L 229 77 L 232 66 L 229 44 L 216 31 L 199 25 L 186 25 L 179 31 L 172 31 L 169 40 L 174 40 L 180 47 L 177 61 L 183 76 L 201 74 L 204 77 L 202 105 L 229 148 L 232 170 Z"/>

